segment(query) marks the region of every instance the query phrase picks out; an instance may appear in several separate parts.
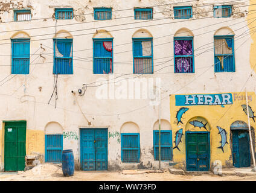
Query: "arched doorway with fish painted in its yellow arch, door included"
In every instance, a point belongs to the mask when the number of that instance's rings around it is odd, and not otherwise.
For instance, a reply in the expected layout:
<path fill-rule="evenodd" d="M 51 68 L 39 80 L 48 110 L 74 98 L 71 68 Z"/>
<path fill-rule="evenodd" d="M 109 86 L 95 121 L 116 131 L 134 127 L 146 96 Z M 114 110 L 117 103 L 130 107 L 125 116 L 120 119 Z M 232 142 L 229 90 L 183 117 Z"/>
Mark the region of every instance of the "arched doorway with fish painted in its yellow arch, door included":
<path fill-rule="evenodd" d="M 210 168 L 210 125 L 205 118 L 191 118 L 185 127 L 187 171 Z"/>

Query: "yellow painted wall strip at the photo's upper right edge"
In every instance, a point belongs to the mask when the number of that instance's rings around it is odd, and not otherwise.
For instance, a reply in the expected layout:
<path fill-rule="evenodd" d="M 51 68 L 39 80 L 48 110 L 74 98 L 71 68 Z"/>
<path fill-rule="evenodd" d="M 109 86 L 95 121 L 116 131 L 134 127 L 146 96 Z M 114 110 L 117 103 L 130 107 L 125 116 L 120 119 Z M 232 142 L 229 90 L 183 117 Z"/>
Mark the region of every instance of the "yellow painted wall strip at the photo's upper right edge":
<path fill-rule="evenodd" d="M 254 11 L 255 10 L 255 11 Z M 250 0 L 250 5 L 249 5 L 249 14 L 247 16 L 247 23 L 248 23 L 248 28 L 250 28 L 250 33 L 252 37 L 252 44 L 251 44 L 251 50 L 250 50 L 250 64 L 251 68 L 254 68 L 254 72 L 256 72 L 256 21 L 255 20 L 256 16 L 256 4 L 255 0 Z"/>

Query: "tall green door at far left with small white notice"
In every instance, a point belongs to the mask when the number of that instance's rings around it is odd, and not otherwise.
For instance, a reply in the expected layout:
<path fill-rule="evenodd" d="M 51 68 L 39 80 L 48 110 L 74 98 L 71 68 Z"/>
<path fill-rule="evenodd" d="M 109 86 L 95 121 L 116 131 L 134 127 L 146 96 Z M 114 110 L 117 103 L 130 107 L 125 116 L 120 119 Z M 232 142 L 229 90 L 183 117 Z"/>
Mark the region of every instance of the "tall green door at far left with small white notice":
<path fill-rule="evenodd" d="M 25 168 L 26 121 L 8 121 L 4 126 L 4 171 Z"/>

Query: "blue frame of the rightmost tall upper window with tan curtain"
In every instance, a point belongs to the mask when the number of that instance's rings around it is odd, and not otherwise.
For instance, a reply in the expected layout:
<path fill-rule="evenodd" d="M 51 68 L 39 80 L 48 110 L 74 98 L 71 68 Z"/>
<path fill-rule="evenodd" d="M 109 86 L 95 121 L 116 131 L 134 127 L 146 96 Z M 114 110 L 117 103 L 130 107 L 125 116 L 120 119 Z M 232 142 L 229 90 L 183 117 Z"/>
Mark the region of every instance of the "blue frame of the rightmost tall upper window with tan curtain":
<path fill-rule="evenodd" d="M 234 35 L 228 35 L 228 36 L 214 36 L 214 40 L 215 39 L 232 39 L 232 68 L 229 70 L 225 70 L 224 66 L 223 66 L 223 71 L 218 71 L 218 67 L 217 64 L 219 62 L 217 62 L 216 57 L 217 56 L 223 56 L 225 57 L 226 55 L 230 55 L 230 54 L 215 54 L 215 43 L 214 43 L 214 72 L 235 72 L 235 52 L 234 52 Z"/>

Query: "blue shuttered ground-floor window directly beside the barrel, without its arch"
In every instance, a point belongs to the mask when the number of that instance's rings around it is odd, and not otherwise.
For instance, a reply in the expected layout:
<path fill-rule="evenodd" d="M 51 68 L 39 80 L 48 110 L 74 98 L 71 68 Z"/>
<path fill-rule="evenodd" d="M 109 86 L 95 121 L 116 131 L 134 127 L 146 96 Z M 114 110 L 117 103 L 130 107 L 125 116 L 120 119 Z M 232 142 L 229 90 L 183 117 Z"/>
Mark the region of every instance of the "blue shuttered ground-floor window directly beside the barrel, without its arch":
<path fill-rule="evenodd" d="M 62 134 L 45 135 L 45 162 L 62 163 Z"/>

